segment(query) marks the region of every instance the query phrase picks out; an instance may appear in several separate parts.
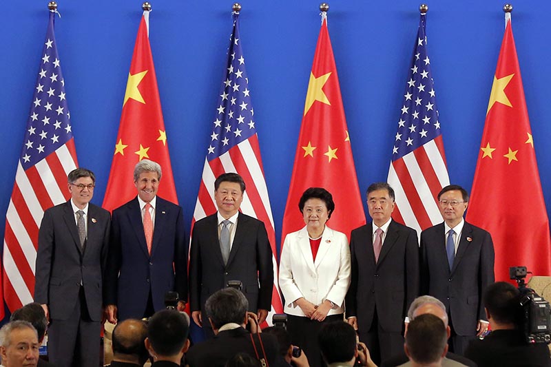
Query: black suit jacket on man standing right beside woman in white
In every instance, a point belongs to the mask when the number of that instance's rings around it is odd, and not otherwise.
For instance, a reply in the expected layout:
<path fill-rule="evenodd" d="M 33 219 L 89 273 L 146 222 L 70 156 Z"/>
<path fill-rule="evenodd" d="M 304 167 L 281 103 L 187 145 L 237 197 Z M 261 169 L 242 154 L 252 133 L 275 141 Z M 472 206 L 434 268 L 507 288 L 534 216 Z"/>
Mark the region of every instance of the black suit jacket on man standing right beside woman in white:
<path fill-rule="evenodd" d="M 383 330 L 401 332 L 408 307 L 419 293 L 417 232 L 392 220 L 375 264 L 373 223 L 368 223 L 352 231 L 350 251 L 346 317 L 356 316 L 359 331 L 366 333 L 376 307 Z"/>

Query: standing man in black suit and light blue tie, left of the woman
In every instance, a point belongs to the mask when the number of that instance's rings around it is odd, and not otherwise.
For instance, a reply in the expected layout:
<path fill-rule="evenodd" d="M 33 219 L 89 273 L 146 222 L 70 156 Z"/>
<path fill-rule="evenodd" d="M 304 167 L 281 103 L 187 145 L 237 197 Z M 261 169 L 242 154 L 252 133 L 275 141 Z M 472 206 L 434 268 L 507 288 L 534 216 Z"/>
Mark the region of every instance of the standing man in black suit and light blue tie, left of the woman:
<path fill-rule="evenodd" d="M 264 223 L 240 213 L 245 182 L 238 174 L 222 174 L 214 181 L 218 211 L 195 223 L 189 255 L 191 317 L 213 337 L 205 315 L 207 298 L 239 280 L 249 311 L 264 322 L 271 309 L 272 253 Z"/>

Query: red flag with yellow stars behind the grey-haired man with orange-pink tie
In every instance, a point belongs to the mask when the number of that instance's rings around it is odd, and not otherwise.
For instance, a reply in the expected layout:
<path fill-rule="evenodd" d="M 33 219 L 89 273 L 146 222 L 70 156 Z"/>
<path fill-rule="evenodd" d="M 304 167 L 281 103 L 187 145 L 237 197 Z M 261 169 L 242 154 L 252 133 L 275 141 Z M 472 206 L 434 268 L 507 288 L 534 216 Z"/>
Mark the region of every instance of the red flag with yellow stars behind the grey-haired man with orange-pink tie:
<path fill-rule="evenodd" d="M 140 160 L 154 160 L 163 169 L 158 196 L 178 203 L 170 165 L 167 133 L 160 109 L 160 98 L 149 46 L 149 11 L 143 17 L 136 37 L 128 74 L 121 125 L 103 207 L 109 211 L 136 196 L 134 166 Z"/>

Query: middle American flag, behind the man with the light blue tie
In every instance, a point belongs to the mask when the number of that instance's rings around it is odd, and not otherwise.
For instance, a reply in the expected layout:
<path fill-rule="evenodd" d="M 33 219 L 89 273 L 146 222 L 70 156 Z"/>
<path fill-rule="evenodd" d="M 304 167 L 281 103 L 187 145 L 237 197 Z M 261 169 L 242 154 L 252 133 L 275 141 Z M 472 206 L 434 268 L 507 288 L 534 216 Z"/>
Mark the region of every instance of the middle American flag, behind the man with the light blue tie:
<path fill-rule="evenodd" d="M 214 180 L 225 172 L 236 172 L 247 185 L 241 211 L 262 220 L 268 232 L 273 253 L 273 292 L 271 313 L 282 313 L 278 289 L 275 230 L 260 146 L 256 134 L 249 79 L 245 72 L 245 57 L 239 36 L 238 12 L 233 12 L 233 32 L 230 37 L 226 70 L 212 122 L 211 142 L 207 149 L 205 167 L 194 211 L 194 222 L 215 213 Z M 271 320 L 268 317 L 267 320 Z"/>

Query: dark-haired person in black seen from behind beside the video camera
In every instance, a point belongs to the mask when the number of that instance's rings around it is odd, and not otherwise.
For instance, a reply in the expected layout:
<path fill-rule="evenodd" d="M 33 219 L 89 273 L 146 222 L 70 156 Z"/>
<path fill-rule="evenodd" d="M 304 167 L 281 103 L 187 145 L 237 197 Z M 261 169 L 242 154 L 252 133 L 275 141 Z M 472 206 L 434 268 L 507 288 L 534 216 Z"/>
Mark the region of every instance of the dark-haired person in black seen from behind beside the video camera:
<path fill-rule="evenodd" d="M 484 292 L 484 307 L 492 332 L 474 340 L 465 357 L 484 366 L 551 366 L 548 346 L 528 344 L 520 328 L 519 290 L 506 282 L 494 283 Z"/>

